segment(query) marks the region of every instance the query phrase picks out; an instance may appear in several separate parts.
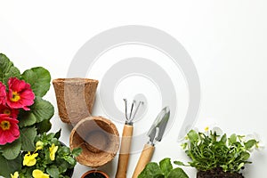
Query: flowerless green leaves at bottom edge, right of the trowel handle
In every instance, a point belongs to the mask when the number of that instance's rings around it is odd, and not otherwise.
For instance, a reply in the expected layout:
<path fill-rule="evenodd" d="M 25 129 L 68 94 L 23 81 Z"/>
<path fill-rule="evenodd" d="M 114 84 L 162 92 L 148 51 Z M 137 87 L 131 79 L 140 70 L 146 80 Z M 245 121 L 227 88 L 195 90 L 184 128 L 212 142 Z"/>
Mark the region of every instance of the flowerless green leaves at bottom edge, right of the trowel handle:
<path fill-rule="evenodd" d="M 182 168 L 173 168 L 170 158 L 164 158 L 158 163 L 150 162 L 138 175 L 138 178 L 189 178 Z"/>

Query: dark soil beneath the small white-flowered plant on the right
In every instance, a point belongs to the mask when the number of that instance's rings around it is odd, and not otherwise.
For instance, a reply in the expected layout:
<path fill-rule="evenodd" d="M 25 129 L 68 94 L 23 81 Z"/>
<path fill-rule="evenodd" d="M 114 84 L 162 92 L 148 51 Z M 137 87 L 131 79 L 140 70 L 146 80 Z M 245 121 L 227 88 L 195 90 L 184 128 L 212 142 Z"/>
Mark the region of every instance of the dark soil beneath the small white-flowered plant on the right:
<path fill-rule="evenodd" d="M 222 167 L 208 171 L 198 171 L 197 178 L 244 178 L 240 173 L 224 172 Z"/>

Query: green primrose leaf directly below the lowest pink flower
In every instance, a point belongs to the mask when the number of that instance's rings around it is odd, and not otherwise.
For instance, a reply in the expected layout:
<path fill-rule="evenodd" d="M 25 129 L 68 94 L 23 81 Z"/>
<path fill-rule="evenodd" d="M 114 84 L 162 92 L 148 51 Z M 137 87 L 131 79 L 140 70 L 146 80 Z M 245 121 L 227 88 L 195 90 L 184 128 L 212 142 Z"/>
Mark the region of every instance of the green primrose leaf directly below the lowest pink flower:
<path fill-rule="evenodd" d="M 21 138 L 17 139 L 12 143 L 7 143 L 2 147 L 3 156 L 7 159 L 14 159 L 20 155 L 21 150 Z"/>

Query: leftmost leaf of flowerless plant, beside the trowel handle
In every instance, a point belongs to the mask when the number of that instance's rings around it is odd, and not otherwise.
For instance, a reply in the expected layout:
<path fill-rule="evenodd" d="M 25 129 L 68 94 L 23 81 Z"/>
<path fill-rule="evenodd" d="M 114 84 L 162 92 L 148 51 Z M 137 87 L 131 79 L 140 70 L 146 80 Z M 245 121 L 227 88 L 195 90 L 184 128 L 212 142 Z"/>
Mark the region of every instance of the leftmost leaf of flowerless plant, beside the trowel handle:
<path fill-rule="evenodd" d="M 158 166 L 157 163 L 150 162 L 145 168 L 142 170 L 142 173 L 138 175 L 138 178 L 148 178 L 151 177 L 153 178 L 154 176 L 160 176 L 164 174 L 162 173 L 160 167 Z"/>

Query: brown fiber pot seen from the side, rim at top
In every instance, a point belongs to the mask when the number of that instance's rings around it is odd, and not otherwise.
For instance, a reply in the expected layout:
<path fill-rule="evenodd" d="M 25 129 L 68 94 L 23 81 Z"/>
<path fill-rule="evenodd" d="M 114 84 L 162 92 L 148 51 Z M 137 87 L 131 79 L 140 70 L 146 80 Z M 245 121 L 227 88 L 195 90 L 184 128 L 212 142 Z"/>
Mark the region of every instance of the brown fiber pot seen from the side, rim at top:
<path fill-rule="evenodd" d="M 62 122 L 76 125 L 91 116 L 97 80 L 89 78 L 57 78 L 53 80 L 59 116 Z"/>

